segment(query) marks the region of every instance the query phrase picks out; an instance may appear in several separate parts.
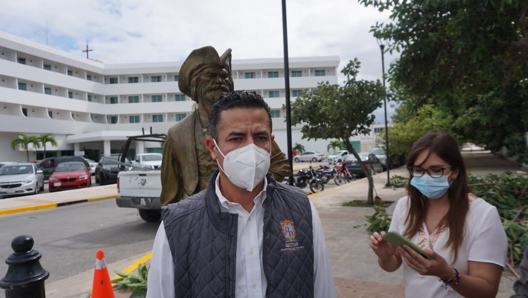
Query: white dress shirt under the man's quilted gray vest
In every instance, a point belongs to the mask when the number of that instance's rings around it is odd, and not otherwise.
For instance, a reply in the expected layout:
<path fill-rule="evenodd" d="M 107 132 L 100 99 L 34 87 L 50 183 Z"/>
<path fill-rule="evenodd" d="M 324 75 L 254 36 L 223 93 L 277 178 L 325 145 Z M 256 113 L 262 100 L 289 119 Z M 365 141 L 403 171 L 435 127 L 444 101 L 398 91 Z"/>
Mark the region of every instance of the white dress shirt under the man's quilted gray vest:
<path fill-rule="evenodd" d="M 238 214 L 237 258 L 235 276 L 236 297 L 265 297 L 266 277 L 264 276 L 262 255 L 262 231 L 266 198 L 267 180 L 263 190 L 254 198 L 251 212 L 238 203 L 232 203 L 220 192 L 219 176 L 216 177 L 215 192 L 224 211 Z M 313 249 L 314 249 L 314 297 L 337 297 L 332 268 L 326 251 L 319 214 L 312 202 Z M 174 293 L 174 263 L 163 222 L 159 225 L 150 270 L 148 272 L 147 298 L 176 298 Z M 256 269 L 260 270 L 256 270 Z"/>

